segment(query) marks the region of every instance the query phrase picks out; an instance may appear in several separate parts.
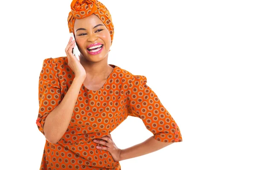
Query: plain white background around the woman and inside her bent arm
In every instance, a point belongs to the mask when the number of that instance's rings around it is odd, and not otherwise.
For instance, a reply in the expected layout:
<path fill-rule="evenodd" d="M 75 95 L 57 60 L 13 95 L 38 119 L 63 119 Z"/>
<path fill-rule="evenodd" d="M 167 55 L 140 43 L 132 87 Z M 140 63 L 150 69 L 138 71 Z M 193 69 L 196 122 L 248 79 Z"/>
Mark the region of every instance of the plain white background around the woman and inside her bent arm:
<path fill-rule="evenodd" d="M 101 2 L 115 27 L 108 63 L 147 77 L 183 137 L 122 170 L 255 170 L 255 1 Z M 0 169 L 39 170 L 38 78 L 45 58 L 66 56 L 70 3 L 1 3 Z M 111 134 L 121 149 L 152 136 L 136 117 Z"/>

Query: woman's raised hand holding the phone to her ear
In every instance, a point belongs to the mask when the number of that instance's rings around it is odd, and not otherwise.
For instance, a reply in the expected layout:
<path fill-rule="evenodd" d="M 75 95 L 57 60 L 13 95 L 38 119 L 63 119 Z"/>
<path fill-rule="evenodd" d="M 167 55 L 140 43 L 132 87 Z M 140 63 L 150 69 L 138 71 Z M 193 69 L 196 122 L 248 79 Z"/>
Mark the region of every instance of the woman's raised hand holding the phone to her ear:
<path fill-rule="evenodd" d="M 72 37 L 65 48 L 65 52 L 67 54 L 68 66 L 75 73 L 75 77 L 86 77 L 86 71 L 84 67 L 81 65 L 80 61 L 76 58 L 76 56 L 72 53 L 73 48 L 75 47 L 75 40 L 72 41 Z"/>

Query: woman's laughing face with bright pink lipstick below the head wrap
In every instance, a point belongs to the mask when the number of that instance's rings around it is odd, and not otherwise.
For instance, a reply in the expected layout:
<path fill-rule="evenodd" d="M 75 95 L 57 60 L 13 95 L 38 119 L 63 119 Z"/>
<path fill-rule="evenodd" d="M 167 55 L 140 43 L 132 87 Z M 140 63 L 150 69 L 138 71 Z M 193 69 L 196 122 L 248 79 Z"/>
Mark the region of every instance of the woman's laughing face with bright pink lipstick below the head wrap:
<path fill-rule="evenodd" d="M 111 36 L 108 28 L 95 14 L 76 19 L 74 31 L 80 58 L 97 62 L 108 57 Z"/>

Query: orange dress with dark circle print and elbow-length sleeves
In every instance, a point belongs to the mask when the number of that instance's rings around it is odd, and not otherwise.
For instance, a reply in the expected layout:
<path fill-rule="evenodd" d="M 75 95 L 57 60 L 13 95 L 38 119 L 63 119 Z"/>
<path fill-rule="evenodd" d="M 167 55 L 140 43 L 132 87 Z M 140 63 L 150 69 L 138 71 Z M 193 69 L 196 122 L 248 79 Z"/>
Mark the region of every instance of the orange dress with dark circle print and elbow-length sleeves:
<path fill-rule="evenodd" d="M 100 144 L 92 140 L 108 135 L 128 116 L 142 119 L 158 141 L 182 141 L 179 127 L 146 84 L 146 77 L 110 66 L 113 71 L 101 89 L 81 85 L 67 131 L 56 144 L 46 140 L 40 170 L 121 170 L 119 161 L 108 151 L 96 149 Z M 74 77 L 67 57 L 44 59 L 36 120 L 41 133 L 47 115 L 61 102 Z"/>

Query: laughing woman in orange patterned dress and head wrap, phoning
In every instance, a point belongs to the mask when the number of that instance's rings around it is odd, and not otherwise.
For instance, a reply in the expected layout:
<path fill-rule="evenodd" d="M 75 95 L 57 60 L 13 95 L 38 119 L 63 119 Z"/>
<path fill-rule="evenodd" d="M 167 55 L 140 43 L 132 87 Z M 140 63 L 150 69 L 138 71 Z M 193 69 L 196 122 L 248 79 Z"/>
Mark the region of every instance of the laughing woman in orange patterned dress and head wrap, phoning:
<path fill-rule="evenodd" d="M 97 0 L 73 0 L 68 26 L 80 61 L 71 37 L 67 57 L 44 59 L 36 123 L 47 140 L 40 169 L 121 170 L 121 160 L 181 142 L 179 127 L 146 77 L 108 64 L 114 33 L 108 9 Z M 154 136 L 121 150 L 110 133 L 127 116 L 142 119 Z"/>

